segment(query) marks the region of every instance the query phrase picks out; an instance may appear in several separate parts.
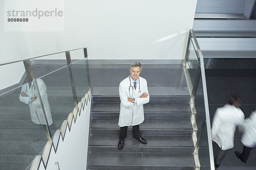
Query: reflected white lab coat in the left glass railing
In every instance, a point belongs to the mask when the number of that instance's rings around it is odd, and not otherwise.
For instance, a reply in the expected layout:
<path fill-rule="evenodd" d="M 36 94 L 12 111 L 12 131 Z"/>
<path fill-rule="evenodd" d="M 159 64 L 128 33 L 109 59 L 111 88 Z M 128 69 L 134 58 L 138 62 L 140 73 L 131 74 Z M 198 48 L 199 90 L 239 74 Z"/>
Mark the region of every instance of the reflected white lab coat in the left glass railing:
<path fill-rule="evenodd" d="M 52 114 L 51 114 L 49 102 L 47 99 L 46 85 L 44 84 L 44 81 L 42 79 L 37 79 L 37 83 L 38 83 L 38 88 L 39 88 L 39 91 L 41 94 L 41 98 L 43 100 L 44 109 L 45 109 L 45 112 L 47 115 L 48 123 L 49 123 L 49 125 L 51 125 L 52 124 Z M 31 120 L 34 123 L 46 125 L 39 97 L 34 102 L 31 102 L 29 104 L 29 97 L 37 97 L 38 96 L 37 90 L 36 90 L 35 86 L 33 86 L 33 85 L 35 85 L 34 82 L 32 82 L 32 85 L 30 86 L 30 88 L 29 88 L 28 84 L 22 86 L 21 92 L 22 91 L 25 92 L 28 96 L 20 95 L 20 102 L 23 102 L 23 103 L 29 105 Z"/>

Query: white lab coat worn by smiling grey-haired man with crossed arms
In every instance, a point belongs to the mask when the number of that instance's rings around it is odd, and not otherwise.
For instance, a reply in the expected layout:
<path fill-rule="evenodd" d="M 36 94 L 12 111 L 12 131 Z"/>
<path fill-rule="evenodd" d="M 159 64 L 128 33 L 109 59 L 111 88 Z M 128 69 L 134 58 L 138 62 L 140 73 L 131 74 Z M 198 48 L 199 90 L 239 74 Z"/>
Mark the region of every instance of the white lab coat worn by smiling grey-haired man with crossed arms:
<path fill-rule="evenodd" d="M 139 84 L 137 83 L 136 90 L 134 88 L 132 92 L 132 89 L 130 89 L 130 94 L 132 96 L 129 94 L 129 77 L 122 80 L 122 82 L 119 84 L 119 96 L 121 99 L 121 104 L 118 125 L 120 127 L 139 125 L 144 121 L 143 105 L 149 102 L 148 85 L 145 79 L 142 77 L 139 77 L 139 79 L 141 92 L 139 93 Z M 131 83 L 131 85 L 133 86 L 133 83 Z M 140 98 L 140 96 L 145 92 L 148 94 L 148 97 Z M 129 102 L 128 98 L 137 98 L 137 105 Z"/>

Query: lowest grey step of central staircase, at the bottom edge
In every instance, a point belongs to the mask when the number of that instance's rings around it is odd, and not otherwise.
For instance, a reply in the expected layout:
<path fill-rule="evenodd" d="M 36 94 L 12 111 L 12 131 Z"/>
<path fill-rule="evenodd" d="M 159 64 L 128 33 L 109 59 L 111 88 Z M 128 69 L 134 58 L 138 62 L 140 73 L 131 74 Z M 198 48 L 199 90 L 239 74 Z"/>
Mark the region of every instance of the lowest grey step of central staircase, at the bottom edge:
<path fill-rule="evenodd" d="M 186 161 L 184 161 L 186 160 Z M 192 154 L 91 152 L 91 170 L 194 170 Z"/>

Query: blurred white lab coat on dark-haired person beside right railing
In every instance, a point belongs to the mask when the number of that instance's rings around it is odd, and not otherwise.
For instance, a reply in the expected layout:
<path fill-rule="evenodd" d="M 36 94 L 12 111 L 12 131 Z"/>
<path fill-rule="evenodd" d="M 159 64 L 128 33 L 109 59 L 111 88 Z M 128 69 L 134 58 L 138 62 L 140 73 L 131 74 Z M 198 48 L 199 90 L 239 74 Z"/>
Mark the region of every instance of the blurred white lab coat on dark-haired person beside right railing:
<path fill-rule="evenodd" d="M 216 110 L 212 121 L 212 140 L 221 150 L 234 147 L 236 127 L 241 126 L 243 121 L 244 113 L 233 105 L 224 105 Z"/>

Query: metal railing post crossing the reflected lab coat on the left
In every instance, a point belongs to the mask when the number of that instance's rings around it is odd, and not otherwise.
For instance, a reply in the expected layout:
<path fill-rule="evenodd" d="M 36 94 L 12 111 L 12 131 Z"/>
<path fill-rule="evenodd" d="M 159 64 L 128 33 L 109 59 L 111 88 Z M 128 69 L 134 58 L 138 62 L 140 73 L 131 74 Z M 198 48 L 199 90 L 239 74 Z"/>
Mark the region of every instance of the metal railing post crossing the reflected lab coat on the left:
<path fill-rule="evenodd" d="M 24 60 L 23 64 L 24 64 L 26 74 L 27 74 L 27 78 L 28 78 L 29 82 L 35 81 L 35 88 L 36 88 L 37 93 L 38 93 L 38 98 L 39 98 L 39 101 L 40 101 L 40 104 L 41 104 L 41 108 L 42 108 L 42 112 L 43 112 L 43 115 L 44 115 L 46 128 L 47 128 L 47 131 L 48 131 L 48 133 L 45 133 L 45 135 L 46 135 L 47 139 L 49 140 L 49 139 L 52 138 L 52 133 L 51 133 L 49 122 L 48 122 L 46 112 L 45 112 L 45 109 L 44 109 L 44 103 L 43 103 L 43 100 L 42 100 L 42 97 L 41 97 L 41 94 L 40 94 L 40 90 L 38 88 L 38 83 L 37 83 L 37 81 L 35 79 L 35 75 L 33 73 L 32 64 L 30 62 L 30 59 Z M 44 126 L 44 128 L 45 128 L 45 126 Z"/>

